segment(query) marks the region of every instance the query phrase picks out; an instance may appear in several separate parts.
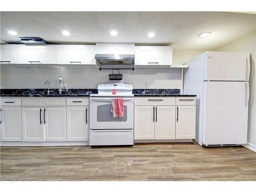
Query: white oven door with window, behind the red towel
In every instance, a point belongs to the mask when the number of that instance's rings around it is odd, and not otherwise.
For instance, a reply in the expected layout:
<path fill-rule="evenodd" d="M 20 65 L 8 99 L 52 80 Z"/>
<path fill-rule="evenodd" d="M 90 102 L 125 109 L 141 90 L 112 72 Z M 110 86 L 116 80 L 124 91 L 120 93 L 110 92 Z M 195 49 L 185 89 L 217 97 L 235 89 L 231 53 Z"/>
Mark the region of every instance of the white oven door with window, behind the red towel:
<path fill-rule="evenodd" d="M 111 101 L 116 97 L 91 97 L 90 98 L 90 129 L 133 129 L 134 124 L 134 98 L 124 97 L 124 116 L 113 118 Z"/>

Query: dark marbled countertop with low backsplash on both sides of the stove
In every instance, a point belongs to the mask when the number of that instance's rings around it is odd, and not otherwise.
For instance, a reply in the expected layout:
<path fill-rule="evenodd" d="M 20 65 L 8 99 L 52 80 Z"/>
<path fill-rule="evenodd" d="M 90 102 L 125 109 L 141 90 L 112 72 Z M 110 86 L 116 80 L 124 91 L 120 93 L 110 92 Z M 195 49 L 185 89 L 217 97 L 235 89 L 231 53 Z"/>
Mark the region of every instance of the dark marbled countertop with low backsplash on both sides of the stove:
<path fill-rule="evenodd" d="M 58 89 L 1 89 L 1 97 L 89 97 L 97 94 L 97 89 L 68 89 L 59 94 Z M 180 89 L 134 89 L 135 97 L 196 97 L 196 95 L 180 94 Z"/>

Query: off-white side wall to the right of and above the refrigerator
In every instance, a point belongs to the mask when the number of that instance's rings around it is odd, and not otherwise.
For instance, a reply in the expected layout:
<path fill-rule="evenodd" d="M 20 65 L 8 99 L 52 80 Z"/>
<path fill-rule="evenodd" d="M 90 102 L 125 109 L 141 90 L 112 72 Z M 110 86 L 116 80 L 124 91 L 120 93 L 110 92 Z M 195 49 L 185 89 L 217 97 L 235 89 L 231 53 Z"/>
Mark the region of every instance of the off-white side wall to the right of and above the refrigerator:
<path fill-rule="evenodd" d="M 234 41 L 217 51 L 248 52 L 250 53 L 250 100 L 249 100 L 249 119 L 248 119 L 248 147 L 256 151 L 256 33 L 247 35 Z"/>

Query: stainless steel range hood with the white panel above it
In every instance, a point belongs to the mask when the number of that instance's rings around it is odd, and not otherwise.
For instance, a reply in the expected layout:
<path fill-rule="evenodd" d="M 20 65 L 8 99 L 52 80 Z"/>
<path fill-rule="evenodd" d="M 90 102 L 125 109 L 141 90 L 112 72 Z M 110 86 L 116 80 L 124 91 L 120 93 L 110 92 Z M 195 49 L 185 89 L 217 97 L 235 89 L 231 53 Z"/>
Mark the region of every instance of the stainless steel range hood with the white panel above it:
<path fill-rule="evenodd" d="M 100 69 L 133 69 L 134 44 L 96 44 L 96 63 Z"/>

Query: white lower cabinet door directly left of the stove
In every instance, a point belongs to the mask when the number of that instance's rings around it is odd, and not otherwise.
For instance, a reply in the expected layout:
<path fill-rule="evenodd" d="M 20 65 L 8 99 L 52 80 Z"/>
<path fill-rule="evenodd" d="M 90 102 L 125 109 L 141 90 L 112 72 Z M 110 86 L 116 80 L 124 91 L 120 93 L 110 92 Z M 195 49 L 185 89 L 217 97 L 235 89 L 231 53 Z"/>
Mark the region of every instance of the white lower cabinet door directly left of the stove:
<path fill-rule="evenodd" d="M 88 141 L 88 107 L 69 106 L 67 108 L 67 140 Z"/>

